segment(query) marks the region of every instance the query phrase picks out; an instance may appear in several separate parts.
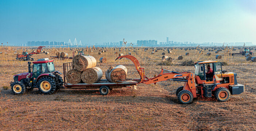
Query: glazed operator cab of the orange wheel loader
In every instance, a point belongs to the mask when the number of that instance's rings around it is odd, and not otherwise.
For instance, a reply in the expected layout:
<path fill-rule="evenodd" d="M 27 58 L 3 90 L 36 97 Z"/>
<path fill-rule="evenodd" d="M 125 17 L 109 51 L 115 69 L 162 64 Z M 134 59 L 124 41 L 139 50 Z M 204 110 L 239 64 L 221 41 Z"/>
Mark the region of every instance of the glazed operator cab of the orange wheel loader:
<path fill-rule="evenodd" d="M 195 82 L 197 84 L 211 84 L 221 80 L 217 74 L 221 74 L 221 62 L 199 61 L 195 62 Z M 210 73 L 209 70 L 212 70 Z M 209 71 L 209 72 L 208 72 Z"/>

